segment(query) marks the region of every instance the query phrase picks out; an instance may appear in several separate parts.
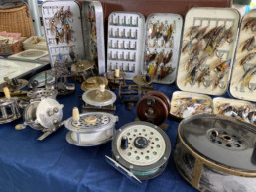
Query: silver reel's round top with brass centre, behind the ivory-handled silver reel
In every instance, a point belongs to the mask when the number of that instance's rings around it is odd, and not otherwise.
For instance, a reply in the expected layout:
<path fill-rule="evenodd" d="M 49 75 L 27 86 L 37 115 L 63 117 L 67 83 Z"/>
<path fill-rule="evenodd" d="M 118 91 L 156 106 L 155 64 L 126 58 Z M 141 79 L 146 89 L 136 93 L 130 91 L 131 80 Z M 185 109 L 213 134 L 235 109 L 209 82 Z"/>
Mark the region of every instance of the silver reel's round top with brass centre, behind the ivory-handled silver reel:
<path fill-rule="evenodd" d="M 112 91 L 100 89 L 90 89 L 83 93 L 82 100 L 92 106 L 103 107 L 114 104 L 116 95 Z"/>

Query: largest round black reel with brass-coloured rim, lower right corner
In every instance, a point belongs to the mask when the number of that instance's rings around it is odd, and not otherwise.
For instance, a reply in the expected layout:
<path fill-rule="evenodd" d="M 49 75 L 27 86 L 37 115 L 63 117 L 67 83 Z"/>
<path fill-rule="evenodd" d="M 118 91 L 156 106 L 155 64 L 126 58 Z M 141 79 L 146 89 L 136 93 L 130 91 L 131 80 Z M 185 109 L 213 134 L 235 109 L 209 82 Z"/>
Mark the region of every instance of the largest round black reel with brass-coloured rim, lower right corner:
<path fill-rule="evenodd" d="M 227 116 L 199 114 L 178 127 L 174 161 L 200 191 L 255 191 L 255 127 Z"/>

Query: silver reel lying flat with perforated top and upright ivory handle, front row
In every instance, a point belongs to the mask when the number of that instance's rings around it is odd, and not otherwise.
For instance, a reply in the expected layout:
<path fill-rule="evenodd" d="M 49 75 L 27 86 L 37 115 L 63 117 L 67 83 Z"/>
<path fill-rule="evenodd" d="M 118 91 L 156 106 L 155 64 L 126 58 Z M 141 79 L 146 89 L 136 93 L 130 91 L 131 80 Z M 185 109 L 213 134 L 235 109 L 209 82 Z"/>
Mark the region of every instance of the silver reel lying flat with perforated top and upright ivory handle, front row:
<path fill-rule="evenodd" d="M 115 133 L 117 116 L 103 112 L 79 114 L 78 108 L 73 108 L 73 116 L 64 123 L 70 130 L 66 135 L 69 144 L 77 146 L 95 146 L 104 144 Z"/>

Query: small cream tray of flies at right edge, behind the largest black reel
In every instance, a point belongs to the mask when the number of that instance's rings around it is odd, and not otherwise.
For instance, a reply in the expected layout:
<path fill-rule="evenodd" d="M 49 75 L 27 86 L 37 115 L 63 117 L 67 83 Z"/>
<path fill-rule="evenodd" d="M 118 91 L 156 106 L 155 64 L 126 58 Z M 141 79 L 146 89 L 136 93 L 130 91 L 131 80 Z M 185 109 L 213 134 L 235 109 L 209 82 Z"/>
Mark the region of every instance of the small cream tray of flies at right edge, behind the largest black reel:
<path fill-rule="evenodd" d="M 223 114 L 244 120 L 256 126 L 256 106 L 248 101 L 227 98 L 213 99 L 215 114 Z"/>

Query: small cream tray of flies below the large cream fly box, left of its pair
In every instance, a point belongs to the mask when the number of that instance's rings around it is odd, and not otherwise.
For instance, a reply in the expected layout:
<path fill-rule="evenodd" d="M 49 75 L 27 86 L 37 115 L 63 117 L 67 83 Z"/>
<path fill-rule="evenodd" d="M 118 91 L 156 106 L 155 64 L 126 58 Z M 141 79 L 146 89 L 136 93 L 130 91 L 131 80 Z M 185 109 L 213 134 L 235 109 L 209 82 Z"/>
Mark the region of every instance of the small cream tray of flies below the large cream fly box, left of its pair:
<path fill-rule="evenodd" d="M 172 116 L 183 119 L 201 113 L 213 113 L 213 103 L 209 96 L 184 91 L 173 93 L 170 111 Z"/>

